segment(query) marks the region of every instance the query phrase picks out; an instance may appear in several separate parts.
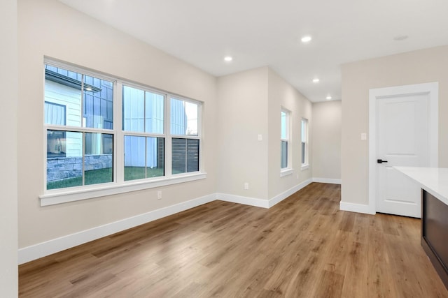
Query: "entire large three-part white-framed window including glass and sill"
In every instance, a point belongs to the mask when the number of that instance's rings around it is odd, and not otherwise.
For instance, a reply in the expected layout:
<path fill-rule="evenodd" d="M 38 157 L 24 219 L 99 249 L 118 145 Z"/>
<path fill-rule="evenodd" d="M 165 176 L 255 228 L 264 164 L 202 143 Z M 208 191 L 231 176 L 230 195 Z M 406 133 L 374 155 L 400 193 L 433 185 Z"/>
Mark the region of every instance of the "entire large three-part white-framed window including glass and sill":
<path fill-rule="evenodd" d="M 202 103 L 45 59 L 41 205 L 204 179 Z"/>

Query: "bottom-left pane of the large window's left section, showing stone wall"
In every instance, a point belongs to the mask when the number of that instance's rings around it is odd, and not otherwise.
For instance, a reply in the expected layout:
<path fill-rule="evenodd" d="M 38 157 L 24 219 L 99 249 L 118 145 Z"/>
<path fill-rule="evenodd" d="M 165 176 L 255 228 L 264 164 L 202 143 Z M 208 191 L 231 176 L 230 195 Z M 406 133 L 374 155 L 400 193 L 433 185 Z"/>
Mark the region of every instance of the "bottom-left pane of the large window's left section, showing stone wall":
<path fill-rule="evenodd" d="M 83 185 L 83 133 L 47 131 L 47 189 Z"/>

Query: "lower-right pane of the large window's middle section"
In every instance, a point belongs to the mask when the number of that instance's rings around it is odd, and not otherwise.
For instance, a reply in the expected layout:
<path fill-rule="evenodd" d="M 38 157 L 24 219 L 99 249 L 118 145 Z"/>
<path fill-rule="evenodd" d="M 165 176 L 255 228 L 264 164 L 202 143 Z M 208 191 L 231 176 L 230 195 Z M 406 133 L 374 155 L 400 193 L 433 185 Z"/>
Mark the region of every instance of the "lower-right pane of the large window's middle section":
<path fill-rule="evenodd" d="M 165 139 L 146 137 L 146 178 L 165 175 Z"/>

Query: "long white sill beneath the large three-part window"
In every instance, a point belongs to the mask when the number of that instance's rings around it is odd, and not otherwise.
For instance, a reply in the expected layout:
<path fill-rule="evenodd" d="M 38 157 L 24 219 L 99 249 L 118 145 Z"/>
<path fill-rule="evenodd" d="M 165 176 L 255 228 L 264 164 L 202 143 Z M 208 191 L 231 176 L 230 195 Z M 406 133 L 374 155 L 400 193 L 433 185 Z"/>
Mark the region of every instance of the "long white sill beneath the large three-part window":
<path fill-rule="evenodd" d="M 129 193 L 130 191 L 141 191 L 143 189 L 179 184 L 207 178 L 207 173 L 196 172 L 194 174 L 176 175 L 170 178 L 161 178 L 151 181 L 132 181 L 123 184 L 107 184 L 94 188 L 81 190 L 58 190 L 57 193 L 45 193 L 40 195 L 41 207 L 66 202 L 75 202 L 92 198 L 104 197 L 106 195 L 117 195 L 119 193 Z"/>

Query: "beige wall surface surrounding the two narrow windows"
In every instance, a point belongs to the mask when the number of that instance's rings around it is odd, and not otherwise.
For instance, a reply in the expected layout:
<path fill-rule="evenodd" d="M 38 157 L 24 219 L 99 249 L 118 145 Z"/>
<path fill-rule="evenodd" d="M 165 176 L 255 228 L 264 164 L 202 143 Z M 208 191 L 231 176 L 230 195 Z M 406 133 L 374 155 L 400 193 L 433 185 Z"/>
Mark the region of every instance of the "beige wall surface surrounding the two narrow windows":
<path fill-rule="evenodd" d="M 311 178 L 312 165 L 302 170 L 301 120 L 308 119 L 309 132 L 314 125 L 311 102 L 299 91 L 283 80 L 274 70 L 269 69 L 268 86 L 268 128 L 269 128 L 269 198 L 274 198 L 288 189 Z M 290 158 L 293 173 L 280 177 L 280 110 L 290 111 Z M 312 144 L 309 140 L 309 161 L 312 158 Z M 298 175 L 298 177 L 297 177 Z"/>

